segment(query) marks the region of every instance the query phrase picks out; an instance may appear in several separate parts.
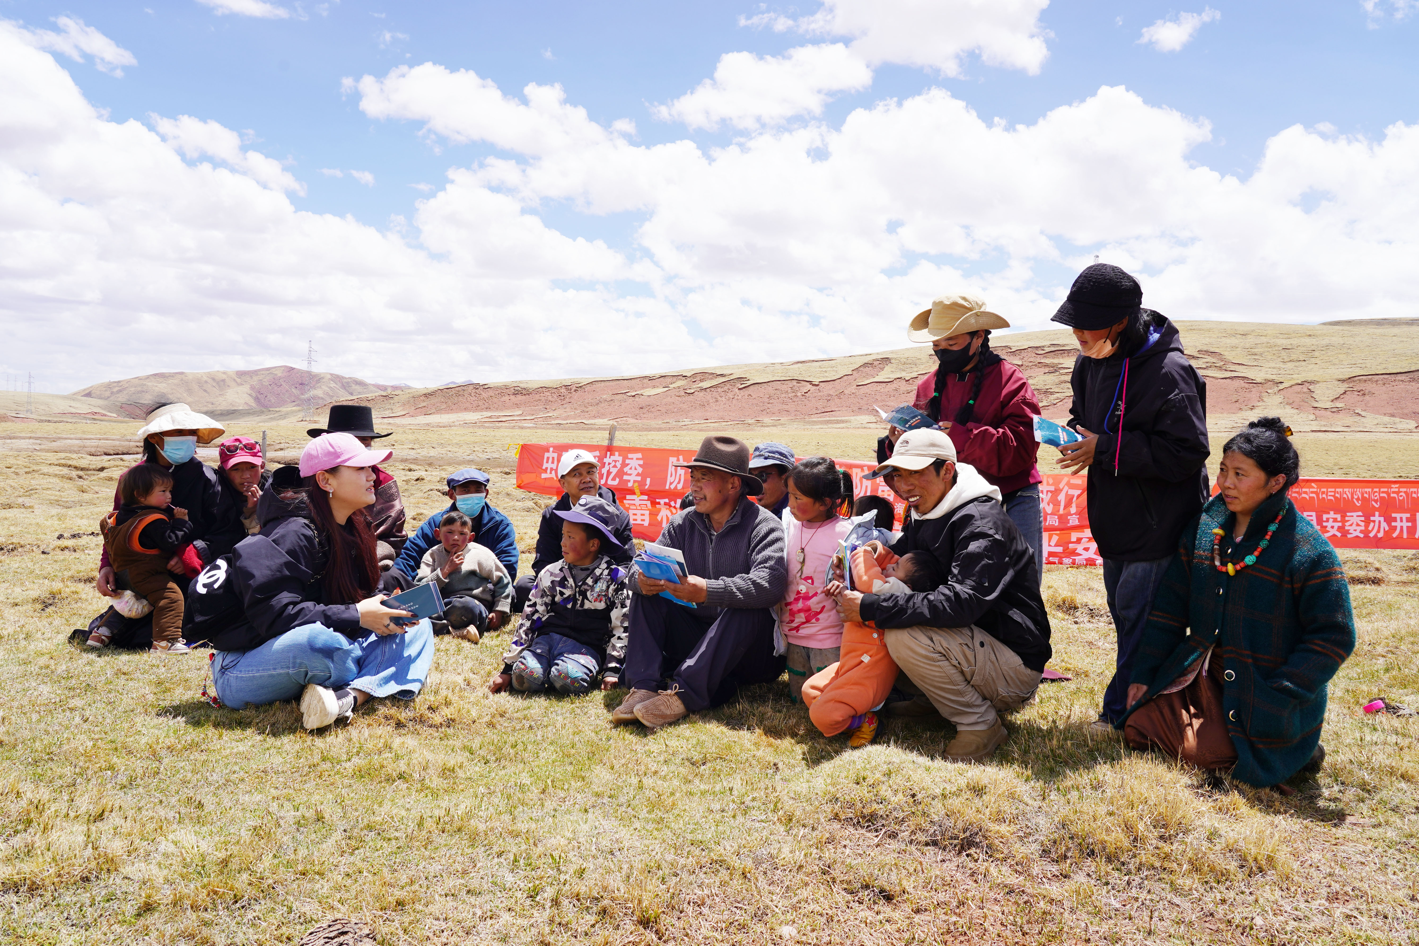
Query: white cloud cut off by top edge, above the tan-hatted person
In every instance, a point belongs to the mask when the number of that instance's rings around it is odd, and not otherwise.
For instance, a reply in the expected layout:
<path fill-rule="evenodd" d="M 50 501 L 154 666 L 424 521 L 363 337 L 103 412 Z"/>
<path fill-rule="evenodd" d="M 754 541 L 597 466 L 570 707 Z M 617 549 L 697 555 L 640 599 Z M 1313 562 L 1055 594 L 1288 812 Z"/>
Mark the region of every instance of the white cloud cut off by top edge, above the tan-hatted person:
<path fill-rule="evenodd" d="M 851 37 L 870 65 L 898 62 L 961 75 L 962 58 L 978 52 L 986 65 L 1037 75 L 1049 48 L 1040 13 L 1050 0 L 823 0 L 796 27 Z M 752 23 L 752 21 L 751 21 Z M 772 23 L 778 28 L 778 20 Z"/>

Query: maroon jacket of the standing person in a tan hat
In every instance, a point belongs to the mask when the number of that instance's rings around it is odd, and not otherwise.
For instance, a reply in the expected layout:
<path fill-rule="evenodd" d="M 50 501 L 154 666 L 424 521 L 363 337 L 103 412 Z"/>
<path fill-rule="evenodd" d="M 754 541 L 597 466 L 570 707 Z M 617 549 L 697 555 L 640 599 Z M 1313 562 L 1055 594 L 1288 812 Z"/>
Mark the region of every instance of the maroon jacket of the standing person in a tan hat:
<path fill-rule="evenodd" d="M 946 386 L 941 390 L 942 427 L 971 400 L 973 389 L 973 373 L 946 376 Z M 937 373 L 928 372 L 917 383 L 912 407 L 927 410 L 927 403 L 935 393 Z M 981 386 L 972 421 L 965 425 L 951 424 L 946 434 L 956 445 L 961 462 L 975 467 L 1002 494 L 1015 492 L 1043 481 L 1034 465 L 1034 454 L 1040 447 L 1034 440 L 1034 416 L 1039 413 L 1040 401 L 1025 372 L 1000 360 L 985 369 L 985 383 Z"/>

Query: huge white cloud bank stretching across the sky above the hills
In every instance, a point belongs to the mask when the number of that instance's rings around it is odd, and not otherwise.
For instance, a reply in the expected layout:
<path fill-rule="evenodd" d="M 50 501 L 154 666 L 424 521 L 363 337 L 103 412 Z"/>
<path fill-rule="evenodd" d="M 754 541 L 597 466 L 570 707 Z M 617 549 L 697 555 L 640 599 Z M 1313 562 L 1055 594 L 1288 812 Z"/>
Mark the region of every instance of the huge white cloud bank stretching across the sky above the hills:
<path fill-rule="evenodd" d="M 448 339 L 450 377 L 822 357 L 904 345 L 905 321 L 954 289 L 1042 326 L 1094 252 L 1174 318 L 1412 315 L 1419 299 L 1419 126 L 1288 128 L 1232 176 L 1195 160 L 1205 119 L 1122 88 L 1026 125 L 928 89 L 714 149 L 641 146 L 559 87 L 505 95 L 434 64 L 349 88 L 375 121 L 501 153 L 457 152 L 383 230 L 305 213 L 237 132 L 111 122 L 0 28 L 7 350 L 70 389 L 289 363 L 305 339 L 326 370 L 409 383 L 429 382 L 409 346 Z M 575 233 L 612 213 L 633 221 L 626 245 Z"/>

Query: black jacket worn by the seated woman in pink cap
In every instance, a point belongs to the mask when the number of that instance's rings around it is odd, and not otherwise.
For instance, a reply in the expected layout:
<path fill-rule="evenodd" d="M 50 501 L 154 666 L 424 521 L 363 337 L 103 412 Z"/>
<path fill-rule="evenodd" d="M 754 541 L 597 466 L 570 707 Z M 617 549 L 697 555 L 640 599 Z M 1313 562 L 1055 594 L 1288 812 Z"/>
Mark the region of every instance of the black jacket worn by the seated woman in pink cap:
<path fill-rule="evenodd" d="M 213 650 L 250 651 L 305 624 L 324 624 L 350 638 L 365 637 L 355 603 L 328 603 L 321 579 L 329 542 L 318 536 L 305 495 L 284 501 L 270 486 L 257 501 L 258 535 L 231 553 L 231 579 L 243 614 L 209 637 Z"/>

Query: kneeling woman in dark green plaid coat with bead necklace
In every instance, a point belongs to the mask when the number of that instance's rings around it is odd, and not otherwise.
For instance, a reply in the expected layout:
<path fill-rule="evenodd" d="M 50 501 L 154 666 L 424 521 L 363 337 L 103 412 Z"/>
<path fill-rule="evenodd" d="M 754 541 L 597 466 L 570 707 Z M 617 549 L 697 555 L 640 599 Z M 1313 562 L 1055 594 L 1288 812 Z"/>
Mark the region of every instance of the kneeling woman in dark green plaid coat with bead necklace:
<path fill-rule="evenodd" d="M 1355 648 L 1340 559 L 1286 495 L 1290 435 L 1263 417 L 1222 448 L 1220 494 L 1183 529 L 1117 723 L 1135 749 L 1257 787 L 1320 767 L 1325 685 Z"/>

